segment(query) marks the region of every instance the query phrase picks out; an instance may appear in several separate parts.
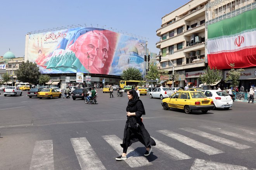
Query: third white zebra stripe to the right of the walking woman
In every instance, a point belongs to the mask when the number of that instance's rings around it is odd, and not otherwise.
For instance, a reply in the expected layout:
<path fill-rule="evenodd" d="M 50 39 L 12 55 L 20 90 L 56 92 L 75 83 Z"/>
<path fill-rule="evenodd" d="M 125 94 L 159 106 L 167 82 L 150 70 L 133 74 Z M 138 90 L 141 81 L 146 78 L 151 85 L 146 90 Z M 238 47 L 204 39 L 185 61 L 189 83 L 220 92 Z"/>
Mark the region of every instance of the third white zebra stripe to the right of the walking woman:
<path fill-rule="evenodd" d="M 213 134 L 210 134 L 210 133 L 206 133 L 206 132 L 203 132 L 203 131 L 199 131 L 197 129 L 193 129 L 193 128 L 180 128 L 180 129 L 182 129 L 184 131 L 187 131 L 187 132 L 190 132 L 190 133 L 193 133 L 193 134 L 197 134 L 197 135 L 202 136 L 204 138 L 210 139 L 212 141 L 216 141 L 218 143 L 222 143 L 223 145 L 227 145 L 227 146 L 239 149 L 239 150 L 251 148 L 251 146 L 242 145 L 242 144 L 237 143 L 235 141 L 231 141 L 229 139 L 221 138 L 219 136 L 216 136 L 216 135 L 213 135 Z"/>

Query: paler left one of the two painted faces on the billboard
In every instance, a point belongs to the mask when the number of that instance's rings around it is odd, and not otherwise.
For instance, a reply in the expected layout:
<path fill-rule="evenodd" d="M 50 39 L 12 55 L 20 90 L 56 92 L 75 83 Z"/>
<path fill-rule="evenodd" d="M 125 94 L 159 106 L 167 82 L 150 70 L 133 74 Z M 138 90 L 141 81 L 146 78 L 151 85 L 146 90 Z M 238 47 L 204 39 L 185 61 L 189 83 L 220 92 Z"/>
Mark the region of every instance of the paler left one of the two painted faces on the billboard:
<path fill-rule="evenodd" d="M 88 64 L 89 66 L 92 65 L 99 50 L 100 41 L 99 36 L 93 32 L 88 32 L 82 36 L 85 36 L 85 38 L 79 37 L 74 43 L 76 48 L 75 54 L 81 64 L 87 67 Z M 88 55 L 90 56 L 89 58 Z"/>

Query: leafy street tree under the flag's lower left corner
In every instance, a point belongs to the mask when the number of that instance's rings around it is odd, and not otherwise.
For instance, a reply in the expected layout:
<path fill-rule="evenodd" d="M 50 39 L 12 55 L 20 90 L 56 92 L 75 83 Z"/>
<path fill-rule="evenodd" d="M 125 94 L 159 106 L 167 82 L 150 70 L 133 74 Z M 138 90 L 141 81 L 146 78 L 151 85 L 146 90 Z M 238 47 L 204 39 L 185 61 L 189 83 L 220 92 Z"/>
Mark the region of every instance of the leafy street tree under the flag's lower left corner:
<path fill-rule="evenodd" d="M 211 84 L 213 84 L 214 82 L 219 82 L 221 78 L 221 71 L 217 68 L 211 69 L 210 66 L 208 66 L 207 69 L 204 70 L 204 75 L 200 75 L 202 83 L 206 83 L 209 88 Z"/>

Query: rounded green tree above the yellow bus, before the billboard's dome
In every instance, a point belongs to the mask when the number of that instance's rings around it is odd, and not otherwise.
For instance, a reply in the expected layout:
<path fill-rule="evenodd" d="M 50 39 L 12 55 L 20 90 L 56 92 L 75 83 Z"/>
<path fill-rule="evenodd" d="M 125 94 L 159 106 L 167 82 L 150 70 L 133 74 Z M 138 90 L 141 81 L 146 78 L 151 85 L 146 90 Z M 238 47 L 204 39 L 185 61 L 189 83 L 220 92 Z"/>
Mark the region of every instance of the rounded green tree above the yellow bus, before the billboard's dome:
<path fill-rule="evenodd" d="M 124 80 L 142 80 L 142 73 L 137 68 L 129 67 L 123 71 L 121 78 Z"/>

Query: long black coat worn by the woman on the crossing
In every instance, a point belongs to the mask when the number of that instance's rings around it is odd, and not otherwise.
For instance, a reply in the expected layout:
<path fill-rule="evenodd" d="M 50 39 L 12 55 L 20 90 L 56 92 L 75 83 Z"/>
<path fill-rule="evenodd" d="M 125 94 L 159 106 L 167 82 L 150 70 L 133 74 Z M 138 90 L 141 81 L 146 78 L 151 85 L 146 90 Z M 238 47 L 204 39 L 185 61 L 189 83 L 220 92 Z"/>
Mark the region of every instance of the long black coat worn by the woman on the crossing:
<path fill-rule="evenodd" d="M 132 105 L 132 106 L 128 105 L 126 108 L 126 111 L 132 112 L 132 113 L 135 112 L 136 116 L 130 116 L 130 117 L 127 116 L 123 143 L 121 144 L 122 148 L 125 146 L 126 141 L 129 143 L 128 146 L 131 146 L 132 143 L 137 141 L 140 141 L 146 147 L 149 147 L 150 145 L 155 146 L 156 142 L 154 141 L 154 139 L 150 138 L 150 135 L 147 132 L 147 129 L 145 129 L 145 126 L 140 119 L 140 117 L 143 114 L 145 114 L 142 101 L 138 99 L 135 105 Z M 137 123 L 139 124 L 138 128 L 136 128 Z M 130 126 L 128 127 L 128 125 Z M 130 136 L 126 134 L 127 129 L 130 129 L 131 131 Z"/>

